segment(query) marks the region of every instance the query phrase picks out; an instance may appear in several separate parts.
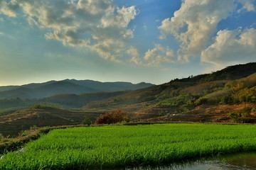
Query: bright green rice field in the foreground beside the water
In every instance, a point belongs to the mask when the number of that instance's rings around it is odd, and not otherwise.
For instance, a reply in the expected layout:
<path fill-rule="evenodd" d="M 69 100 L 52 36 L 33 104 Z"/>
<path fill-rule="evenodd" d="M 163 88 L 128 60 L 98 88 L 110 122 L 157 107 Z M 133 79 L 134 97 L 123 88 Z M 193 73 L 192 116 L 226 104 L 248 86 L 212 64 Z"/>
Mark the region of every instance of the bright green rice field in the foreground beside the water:
<path fill-rule="evenodd" d="M 114 125 L 53 130 L 0 169 L 102 169 L 256 150 L 255 125 Z"/>

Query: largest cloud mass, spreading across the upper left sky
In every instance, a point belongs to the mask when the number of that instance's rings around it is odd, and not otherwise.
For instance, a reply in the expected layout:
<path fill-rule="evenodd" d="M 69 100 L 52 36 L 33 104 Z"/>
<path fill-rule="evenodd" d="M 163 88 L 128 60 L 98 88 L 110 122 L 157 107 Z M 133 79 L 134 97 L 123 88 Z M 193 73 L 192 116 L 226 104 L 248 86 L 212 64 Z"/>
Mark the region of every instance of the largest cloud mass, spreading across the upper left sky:
<path fill-rule="evenodd" d="M 25 13 L 28 23 L 49 30 L 45 37 L 63 45 L 90 47 L 105 59 L 117 60 L 127 50 L 133 31 L 127 26 L 135 6 L 119 8 L 112 0 L 1 0 L 0 12 L 17 16 Z"/>

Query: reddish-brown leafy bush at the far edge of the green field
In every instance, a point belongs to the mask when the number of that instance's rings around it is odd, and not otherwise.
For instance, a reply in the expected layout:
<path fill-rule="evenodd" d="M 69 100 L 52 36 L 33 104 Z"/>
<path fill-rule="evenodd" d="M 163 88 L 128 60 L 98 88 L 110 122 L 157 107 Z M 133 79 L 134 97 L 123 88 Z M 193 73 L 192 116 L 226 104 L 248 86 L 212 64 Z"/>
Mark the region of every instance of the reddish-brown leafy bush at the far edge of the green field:
<path fill-rule="evenodd" d="M 95 124 L 113 124 L 121 123 L 122 121 L 128 121 L 129 117 L 126 111 L 123 111 L 122 108 L 117 108 L 115 111 L 110 111 L 105 113 L 105 115 L 100 116 L 95 120 Z"/>

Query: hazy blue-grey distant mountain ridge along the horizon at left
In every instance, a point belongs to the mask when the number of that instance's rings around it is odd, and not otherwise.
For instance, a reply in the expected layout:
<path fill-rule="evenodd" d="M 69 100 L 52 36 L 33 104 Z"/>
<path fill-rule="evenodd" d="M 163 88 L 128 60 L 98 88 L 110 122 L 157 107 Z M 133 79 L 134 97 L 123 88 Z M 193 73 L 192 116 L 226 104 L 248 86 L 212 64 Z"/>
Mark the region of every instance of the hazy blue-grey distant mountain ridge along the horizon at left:
<path fill-rule="evenodd" d="M 45 98 L 58 94 L 86 94 L 92 92 L 114 92 L 136 90 L 154 86 L 149 83 L 100 82 L 92 80 L 65 79 L 22 86 L 0 86 L 0 99 L 4 98 Z"/>

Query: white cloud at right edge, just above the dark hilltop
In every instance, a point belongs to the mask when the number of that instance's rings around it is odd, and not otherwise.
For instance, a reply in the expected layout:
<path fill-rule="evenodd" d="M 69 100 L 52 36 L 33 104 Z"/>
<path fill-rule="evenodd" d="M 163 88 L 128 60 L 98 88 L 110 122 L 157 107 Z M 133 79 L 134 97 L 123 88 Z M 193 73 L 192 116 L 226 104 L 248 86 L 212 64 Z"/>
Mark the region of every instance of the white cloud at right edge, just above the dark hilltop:
<path fill-rule="evenodd" d="M 201 61 L 217 67 L 256 62 L 256 30 L 220 30 L 213 44 L 203 50 Z"/>

